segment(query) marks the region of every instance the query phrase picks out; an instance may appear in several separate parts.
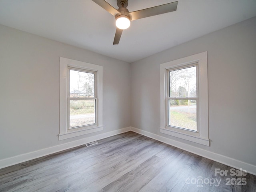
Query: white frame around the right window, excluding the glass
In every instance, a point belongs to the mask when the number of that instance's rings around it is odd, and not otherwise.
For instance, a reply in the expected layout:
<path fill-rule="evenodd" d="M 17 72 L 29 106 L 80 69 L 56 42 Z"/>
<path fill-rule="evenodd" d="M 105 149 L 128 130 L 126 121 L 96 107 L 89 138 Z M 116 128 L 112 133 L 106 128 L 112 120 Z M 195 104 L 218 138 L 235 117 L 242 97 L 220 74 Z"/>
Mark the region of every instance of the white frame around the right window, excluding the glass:
<path fill-rule="evenodd" d="M 168 126 L 168 71 L 197 64 L 197 132 Z M 160 64 L 160 132 L 209 146 L 207 52 Z"/>

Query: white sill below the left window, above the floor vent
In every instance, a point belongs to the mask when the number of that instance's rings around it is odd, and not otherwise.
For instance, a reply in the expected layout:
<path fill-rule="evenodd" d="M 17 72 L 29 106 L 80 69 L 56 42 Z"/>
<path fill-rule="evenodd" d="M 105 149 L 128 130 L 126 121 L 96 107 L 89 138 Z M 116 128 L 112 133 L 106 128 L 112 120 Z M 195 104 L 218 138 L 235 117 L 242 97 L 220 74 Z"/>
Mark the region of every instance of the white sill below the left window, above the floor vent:
<path fill-rule="evenodd" d="M 90 133 L 94 133 L 102 130 L 103 130 L 103 126 L 97 126 L 97 127 L 87 128 L 84 130 L 61 133 L 59 134 L 59 140 L 64 140 L 64 139 L 68 139 L 68 138 L 72 138 L 80 135 L 86 135 L 86 134 L 90 134 Z"/>

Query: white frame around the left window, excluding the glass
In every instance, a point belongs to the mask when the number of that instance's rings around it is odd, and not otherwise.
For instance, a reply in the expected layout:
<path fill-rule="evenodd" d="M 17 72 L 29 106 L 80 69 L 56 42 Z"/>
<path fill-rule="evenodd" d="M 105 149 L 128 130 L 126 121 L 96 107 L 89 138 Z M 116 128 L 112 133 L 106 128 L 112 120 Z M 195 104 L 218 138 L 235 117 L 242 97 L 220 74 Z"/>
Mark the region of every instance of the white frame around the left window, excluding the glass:
<path fill-rule="evenodd" d="M 95 124 L 69 128 L 69 70 L 72 68 L 81 71 L 91 71 L 95 77 Z M 64 140 L 84 134 L 90 134 L 103 130 L 102 124 L 102 87 L 103 87 L 103 67 L 82 61 L 60 57 L 60 134 L 59 140 Z"/>

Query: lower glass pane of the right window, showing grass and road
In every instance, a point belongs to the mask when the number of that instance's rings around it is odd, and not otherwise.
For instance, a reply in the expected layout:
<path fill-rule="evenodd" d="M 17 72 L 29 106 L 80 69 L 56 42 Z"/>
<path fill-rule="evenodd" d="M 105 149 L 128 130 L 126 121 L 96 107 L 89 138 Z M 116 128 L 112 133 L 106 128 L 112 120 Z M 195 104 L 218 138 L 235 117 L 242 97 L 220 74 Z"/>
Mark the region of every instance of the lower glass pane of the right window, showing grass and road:
<path fill-rule="evenodd" d="M 168 100 L 168 125 L 196 131 L 196 100 Z"/>

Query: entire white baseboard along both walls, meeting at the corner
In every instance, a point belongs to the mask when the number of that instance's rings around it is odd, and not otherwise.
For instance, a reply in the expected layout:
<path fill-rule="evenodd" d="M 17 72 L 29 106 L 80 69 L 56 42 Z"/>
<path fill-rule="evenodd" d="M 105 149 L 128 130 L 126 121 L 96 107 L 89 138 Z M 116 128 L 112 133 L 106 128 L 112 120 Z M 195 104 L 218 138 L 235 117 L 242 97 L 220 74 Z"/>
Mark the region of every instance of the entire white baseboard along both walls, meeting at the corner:
<path fill-rule="evenodd" d="M 216 162 L 220 162 L 222 164 L 234 167 L 236 169 L 242 168 L 243 170 L 246 170 L 248 173 L 256 175 L 256 166 L 255 165 L 248 164 L 246 162 L 242 162 L 242 161 L 239 161 L 239 160 L 236 160 L 236 159 L 224 156 L 224 155 L 216 154 L 214 152 L 203 150 L 201 148 L 190 146 L 188 144 L 184 144 L 182 142 L 178 142 L 178 141 L 175 141 L 175 140 L 163 137 L 163 136 L 159 136 L 159 135 L 156 135 L 156 134 L 144 131 L 144 130 L 140 130 L 140 129 L 137 129 L 137 128 L 134 128 L 134 127 L 126 127 L 126 128 L 106 132 L 106 133 L 103 133 L 103 134 L 99 134 L 99 135 L 96 135 L 96 136 L 83 138 L 83 139 L 80 139 L 80 140 L 76 140 L 76 141 L 68 142 L 68 143 L 65 143 L 65 144 L 53 146 L 53 147 L 50 147 L 50 148 L 44 148 L 42 150 L 29 152 L 29 153 L 21 154 L 21 155 L 18 155 L 18 156 L 2 159 L 2 160 L 0 160 L 0 169 L 4 168 L 4 167 L 15 165 L 15 164 L 18 164 L 18 163 L 26 162 L 28 160 L 32 160 L 32 159 L 35 159 L 35 158 L 39 158 L 39 157 L 42 157 L 42 156 L 46 156 L 46 155 L 49 155 L 49 154 L 53 154 L 53 153 L 56 153 L 56 152 L 60 152 L 60 151 L 66 150 L 66 149 L 70 149 L 70 148 L 73 148 L 73 147 L 76 147 L 76 146 L 84 145 L 84 144 L 87 144 L 87 143 L 90 143 L 90 142 L 93 142 L 93 141 L 96 141 L 96 140 L 100 140 L 100 139 L 104 139 L 104 138 L 107 138 L 107 137 L 110 137 L 110 136 L 114 136 L 114 135 L 117 135 L 117 134 L 128 132 L 128 131 L 136 132 L 138 134 L 150 137 L 152 139 L 155 139 L 155 140 L 161 141 L 163 143 L 172 145 L 174 147 L 180 148 L 182 150 L 186 150 L 188 152 L 200 155 L 202 157 L 214 160 Z"/>

